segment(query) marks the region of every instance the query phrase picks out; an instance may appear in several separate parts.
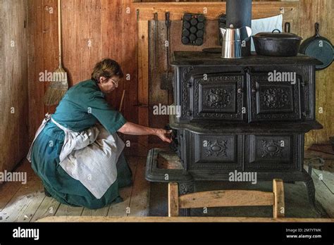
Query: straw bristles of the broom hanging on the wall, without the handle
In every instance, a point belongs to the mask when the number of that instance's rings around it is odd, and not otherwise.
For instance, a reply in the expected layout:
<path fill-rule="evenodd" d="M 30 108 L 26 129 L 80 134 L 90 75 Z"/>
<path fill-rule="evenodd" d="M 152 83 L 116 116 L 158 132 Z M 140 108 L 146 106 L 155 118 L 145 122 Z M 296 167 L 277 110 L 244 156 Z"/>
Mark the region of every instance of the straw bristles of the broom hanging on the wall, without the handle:
<path fill-rule="evenodd" d="M 47 88 L 44 95 L 44 103 L 46 106 L 54 106 L 58 104 L 68 91 L 67 73 L 63 68 L 54 71 L 52 82 Z"/>

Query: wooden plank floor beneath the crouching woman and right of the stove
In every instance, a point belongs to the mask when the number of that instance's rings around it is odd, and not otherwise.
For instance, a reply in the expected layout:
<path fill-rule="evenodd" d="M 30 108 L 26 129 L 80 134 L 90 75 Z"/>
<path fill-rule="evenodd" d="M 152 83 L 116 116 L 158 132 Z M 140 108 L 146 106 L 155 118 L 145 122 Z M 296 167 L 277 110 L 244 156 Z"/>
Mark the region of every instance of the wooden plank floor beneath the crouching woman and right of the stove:
<path fill-rule="evenodd" d="M 75 208 L 58 203 L 44 195 L 39 177 L 23 163 L 16 171 L 27 172 L 27 184 L 7 182 L 0 187 L 0 222 L 35 222 L 49 216 L 148 216 L 149 182 L 144 179 L 146 158 L 131 157 L 128 163 L 133 172 L 133 185 L 120 190 L 122 203 L 112 204 L 98 210 Z M 334 218 L 334 174 L 313 170 L 316 199 Z"/>

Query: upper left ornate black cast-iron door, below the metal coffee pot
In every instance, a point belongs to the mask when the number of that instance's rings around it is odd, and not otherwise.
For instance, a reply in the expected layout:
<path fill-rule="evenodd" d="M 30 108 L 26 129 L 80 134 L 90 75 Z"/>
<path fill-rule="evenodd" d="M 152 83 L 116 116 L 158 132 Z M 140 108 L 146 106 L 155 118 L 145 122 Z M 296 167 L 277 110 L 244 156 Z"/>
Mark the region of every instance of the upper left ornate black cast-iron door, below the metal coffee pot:
<path fill-rule="evenodd" d="M 192 120 L 245 120 L 245 75 L 214 73 L 193 75 Z"/>

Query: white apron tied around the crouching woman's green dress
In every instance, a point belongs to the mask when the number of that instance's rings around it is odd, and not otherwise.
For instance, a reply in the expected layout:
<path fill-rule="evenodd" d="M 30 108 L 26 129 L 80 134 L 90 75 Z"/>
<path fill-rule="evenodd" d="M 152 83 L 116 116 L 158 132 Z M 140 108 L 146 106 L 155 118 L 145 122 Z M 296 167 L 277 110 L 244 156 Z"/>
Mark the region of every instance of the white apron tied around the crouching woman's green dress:
<path fill-rule="evenodd" d="M 109 134 L 103 126 L 73 132 L 58 124 L 51 115 L 47 114 L 30 146 L 27 155 L 30 163 L 32 146 L 49 120 L 65 132 L 63 148 L 59 156 L 61 168 L 70 177 L 80 181 L 93 196 L 101 199 L 111 184 L 116 181 L 116 163 L 124 149 L 124 142 L 117 133 Z"/>

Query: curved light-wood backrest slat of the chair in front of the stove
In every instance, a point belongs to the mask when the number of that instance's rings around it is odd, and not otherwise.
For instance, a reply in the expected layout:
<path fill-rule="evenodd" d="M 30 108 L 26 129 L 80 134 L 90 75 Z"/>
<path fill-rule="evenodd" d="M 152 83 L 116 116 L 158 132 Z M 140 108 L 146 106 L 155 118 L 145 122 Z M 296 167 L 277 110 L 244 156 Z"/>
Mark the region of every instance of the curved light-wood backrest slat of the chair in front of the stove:
<path fill-rule="evenodd" d="M 202 191 L 180 196 L 179 200 L 180 208 L 271 206 L 273 205 L 273 193 L 245 190 Z"/>

